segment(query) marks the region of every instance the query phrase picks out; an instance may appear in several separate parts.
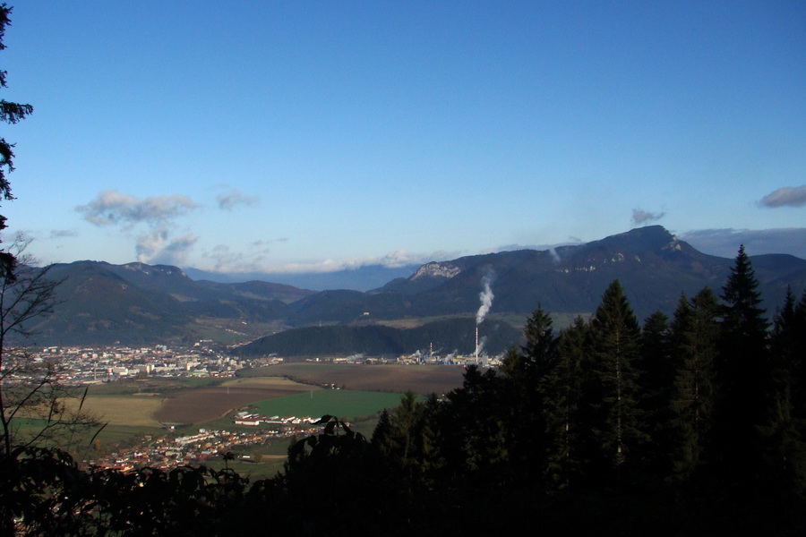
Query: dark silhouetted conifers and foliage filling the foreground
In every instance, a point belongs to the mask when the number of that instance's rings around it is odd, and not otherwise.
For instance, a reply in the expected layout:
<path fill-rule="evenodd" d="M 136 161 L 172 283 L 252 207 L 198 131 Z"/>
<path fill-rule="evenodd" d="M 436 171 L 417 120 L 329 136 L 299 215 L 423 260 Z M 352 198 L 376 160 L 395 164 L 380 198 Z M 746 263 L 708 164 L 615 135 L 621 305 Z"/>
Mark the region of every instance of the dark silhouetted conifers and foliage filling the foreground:
<path fill-rule="evenodd" d="M 806 293 L 770 323 L 743 249 L 719 297 L 639 324 L 614 281 L 555 333 L 538 308 L 500 370 L 403 397 L 372 439 L 326 416 L 287 471 L 81 471 L 6 459 L 6 534 L 766 534 L 806 531 Z M 416 533 L 413 533 L 416 532 Z"/>

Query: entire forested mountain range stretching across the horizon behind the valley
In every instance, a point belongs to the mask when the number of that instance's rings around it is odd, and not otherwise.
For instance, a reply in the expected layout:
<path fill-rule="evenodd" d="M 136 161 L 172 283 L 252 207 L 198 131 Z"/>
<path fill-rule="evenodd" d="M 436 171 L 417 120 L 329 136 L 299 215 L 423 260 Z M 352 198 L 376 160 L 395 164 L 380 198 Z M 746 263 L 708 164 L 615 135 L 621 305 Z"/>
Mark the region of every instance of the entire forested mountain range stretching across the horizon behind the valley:
<path fill-rule="evenodd" d="M 806 260 L 787 254 L 750 260 L 770 315 L 787 286 L 799 295 L 806 288 Z M 731 267 L 733 259 L 697 251 L 662 226 L 552 250 L 430 262 L 366 292 L 315 292 L 265 281 L 220 283 L 193 280 L 165 265 L 76 261 L 49 268 L 48 277 L 64 279 L 61 303 L 35 327 L 35 343 L 136 345 L 199 338 L 242 343 L 310 326 L 414 327 L 475 316 L 485 283 L 494 294 L 491 316 L 523 320 L 538 304 L 571 315 L 595 311 L 606 286 L 618 278 L 643 319 L 656 310 L 671 313 L 682 293 L 710 286 L 718 294 Z"/>

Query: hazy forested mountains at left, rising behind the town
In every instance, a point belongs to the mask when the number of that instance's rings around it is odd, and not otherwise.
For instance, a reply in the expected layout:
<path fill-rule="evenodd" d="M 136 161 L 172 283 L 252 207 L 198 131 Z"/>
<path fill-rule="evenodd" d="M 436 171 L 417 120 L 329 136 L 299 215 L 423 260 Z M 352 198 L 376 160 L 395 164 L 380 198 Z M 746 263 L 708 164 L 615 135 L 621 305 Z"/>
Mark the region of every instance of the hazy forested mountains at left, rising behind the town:
<path fill-rule="evenodd" d="M 176 267 L 76 261 L 53 265 L 63 280 L 54 313 L 33 327 L 36 345 L 139 345 L 191 333 L 194 320 L 257 322 L 286 316 L 287 302 L 313 293 L 267 282 L 194 282 Z"/>

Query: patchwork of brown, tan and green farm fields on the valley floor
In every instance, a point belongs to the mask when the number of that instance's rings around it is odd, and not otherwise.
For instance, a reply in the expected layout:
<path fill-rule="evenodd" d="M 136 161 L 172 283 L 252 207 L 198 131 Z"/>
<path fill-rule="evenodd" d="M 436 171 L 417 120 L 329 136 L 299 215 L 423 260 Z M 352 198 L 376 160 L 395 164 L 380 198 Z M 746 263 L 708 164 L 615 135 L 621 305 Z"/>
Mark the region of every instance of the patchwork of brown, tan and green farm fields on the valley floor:
<path fill-rule="evenodd" d="M 235 379 L 149 377 L 99 383 L 88 388 L 83 410 L 100 425 L 73 435 L 69 443 L 80 450 L 90 447 L 90 439 L 102 447 L 132 445 L 142 435 L 167 434 L 164 423 L 184 424 L 178 434 L 200 427 L 251 430 L 236 426 L 231 417 L 250 405 L 264 416 L 329 413 L 371 435 L 378 412 L 399 405 L 401 393 L 409 389 L 420 395 L 445 393 L 461 386 L 463 372 L 459 366 L 297 362 L 239 371 Z M 331 384 L 348 389 L 321 388 Z M 80 396 L 64 402 L 77 407 Z M 39 425 L 23 427 L 37 430 Z M 282 456 L 286 447 L 284 443 L 279 453 L 261 455 Z"/>

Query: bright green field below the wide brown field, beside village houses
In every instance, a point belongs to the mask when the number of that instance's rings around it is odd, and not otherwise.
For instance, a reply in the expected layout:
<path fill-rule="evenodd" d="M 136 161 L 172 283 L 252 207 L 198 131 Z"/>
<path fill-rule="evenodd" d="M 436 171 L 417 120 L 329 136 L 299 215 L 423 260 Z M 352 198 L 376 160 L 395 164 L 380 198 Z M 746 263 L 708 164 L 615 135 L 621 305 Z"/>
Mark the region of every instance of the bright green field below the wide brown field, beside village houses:
<path fill-rule="evenodd" d="M 398 406 L 400 394 L 345 389 L 322 389 L 296 396 L 268 399 L 255 403 L 263 416 L 311 416 L 324 414 L 339 418 L 356 418 L 380 413 L 384 408 Z"/>

